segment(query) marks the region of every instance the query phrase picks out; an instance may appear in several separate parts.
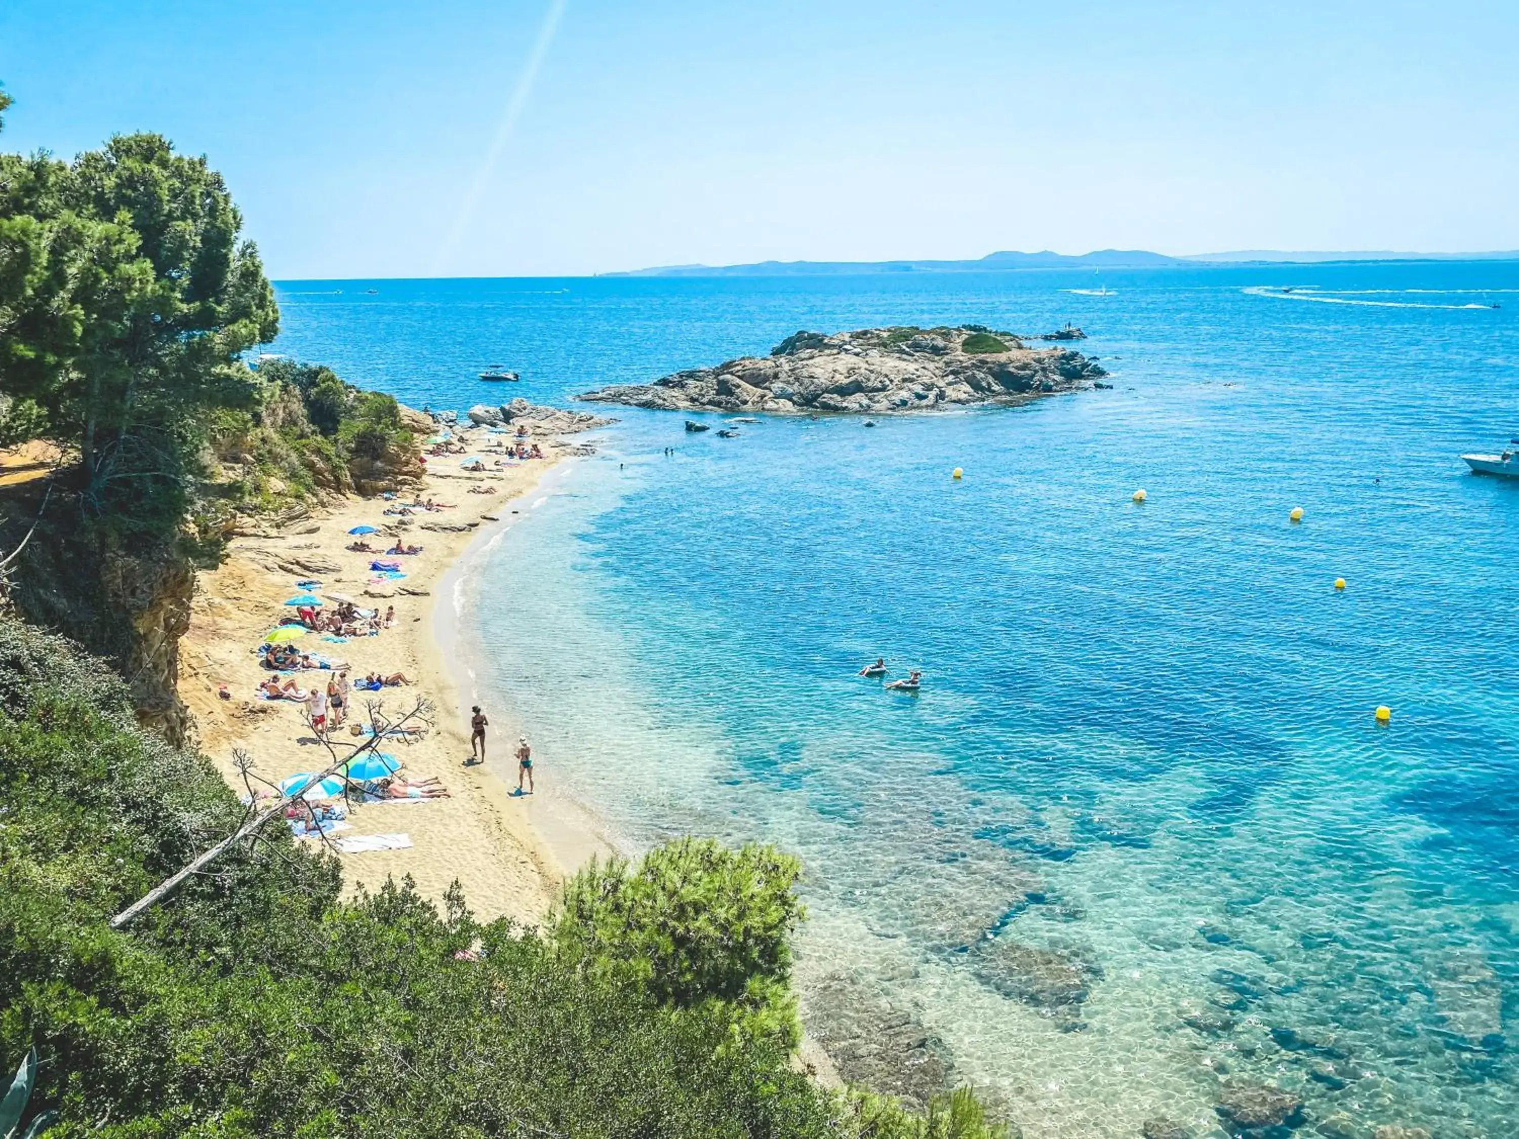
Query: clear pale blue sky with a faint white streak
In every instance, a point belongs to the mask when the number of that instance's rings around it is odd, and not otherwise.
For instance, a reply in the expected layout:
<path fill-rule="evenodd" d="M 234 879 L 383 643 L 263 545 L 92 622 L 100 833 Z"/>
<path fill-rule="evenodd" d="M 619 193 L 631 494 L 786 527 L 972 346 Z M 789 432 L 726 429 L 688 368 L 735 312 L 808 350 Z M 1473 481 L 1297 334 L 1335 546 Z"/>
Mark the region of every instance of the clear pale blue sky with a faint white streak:
<path fill-rule="evenodd" d="M 281 278 L 1513 249 L 1516 44 L 1514 0 L 0 0 L 0 144 L 161 131 Z"/>

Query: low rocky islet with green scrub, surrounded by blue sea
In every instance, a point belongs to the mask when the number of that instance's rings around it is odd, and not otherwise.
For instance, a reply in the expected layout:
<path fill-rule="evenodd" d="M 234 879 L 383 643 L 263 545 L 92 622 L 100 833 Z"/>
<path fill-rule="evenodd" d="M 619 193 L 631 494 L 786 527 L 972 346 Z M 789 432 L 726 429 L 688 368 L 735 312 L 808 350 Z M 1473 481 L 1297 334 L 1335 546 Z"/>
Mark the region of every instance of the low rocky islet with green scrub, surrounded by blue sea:
<path fill-rule="evenodd" d="M 1027 348 L 984 325 L 796 333 L 767 357 L 694 368 L 579 396 L 671 412 L 854 412 L 1022 404 L 1092 387 L 1107 372 L 1066 348 Z"/>

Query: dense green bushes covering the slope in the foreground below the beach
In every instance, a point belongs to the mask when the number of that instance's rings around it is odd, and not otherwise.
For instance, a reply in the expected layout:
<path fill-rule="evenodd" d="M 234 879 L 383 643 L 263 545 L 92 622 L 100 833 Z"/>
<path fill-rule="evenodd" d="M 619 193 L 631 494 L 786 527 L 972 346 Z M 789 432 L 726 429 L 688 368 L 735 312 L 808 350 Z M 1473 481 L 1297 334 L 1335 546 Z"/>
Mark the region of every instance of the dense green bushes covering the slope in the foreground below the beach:
<path fill-rule="evenodd" d="M 542 929 L 456 888 L 340 899 L 279 828 L 135 925 L 125 904 L 246 816 L 128 688 L 0 621 L 0 1055 L 36 1046 L 50 1136 L 995 1139 L 797 1071 L 794 860 L 681 841 L 589 866 Z"/>

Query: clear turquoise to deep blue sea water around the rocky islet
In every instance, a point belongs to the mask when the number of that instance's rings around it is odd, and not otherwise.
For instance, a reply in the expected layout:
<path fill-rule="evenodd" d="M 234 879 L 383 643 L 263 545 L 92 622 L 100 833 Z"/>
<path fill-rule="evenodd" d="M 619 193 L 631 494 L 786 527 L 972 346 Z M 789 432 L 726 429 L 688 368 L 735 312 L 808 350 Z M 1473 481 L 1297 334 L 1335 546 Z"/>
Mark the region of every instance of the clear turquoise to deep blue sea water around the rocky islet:
<path fill-rule="evenodd" d="M 286 282 L 276 349 L 463 410 L 799 328 L 1083 325 L 1113 390 L 731 440 L 614 410 L 471 566 L 483 691 L 629 844 L 797 852 L 804 986 L 861 975 L 1030 1137 L 1221 1134 L 1230 1080 L 1306 1134 L 1516 1134 L 1519 481 L 1457 456 L 1519 434 L 1519 264 L 1100 284 Z"/>

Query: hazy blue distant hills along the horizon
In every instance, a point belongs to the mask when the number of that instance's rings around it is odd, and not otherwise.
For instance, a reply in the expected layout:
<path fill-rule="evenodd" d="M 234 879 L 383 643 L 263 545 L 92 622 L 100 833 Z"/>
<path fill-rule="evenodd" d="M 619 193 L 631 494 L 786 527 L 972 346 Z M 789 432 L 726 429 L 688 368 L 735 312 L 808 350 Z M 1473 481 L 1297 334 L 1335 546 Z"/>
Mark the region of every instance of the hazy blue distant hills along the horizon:
<path fill-rule="evenodd" d="M 984 273 L 1013 269 L 1156 269 L 1240 264 L 1249 261 L 1279 264 L 1317 264 L 1322 261 L 1519 261 L 1519 249 L 1487 254 L 1397 254 L 1366 252 L 1282 252 L 1279 249 L 1236 249 L 1226 254 L 1170 257 L 1147 249 L 1098 249 L 1075 257 L 1048 249 L 1037 254 L 1006 251 L 975 261 L 760 261 L 758 264 L 671 264 L 633 269 L 603 276 L 845 276 L 852 273 Z"/>

